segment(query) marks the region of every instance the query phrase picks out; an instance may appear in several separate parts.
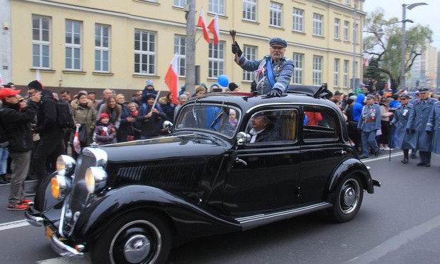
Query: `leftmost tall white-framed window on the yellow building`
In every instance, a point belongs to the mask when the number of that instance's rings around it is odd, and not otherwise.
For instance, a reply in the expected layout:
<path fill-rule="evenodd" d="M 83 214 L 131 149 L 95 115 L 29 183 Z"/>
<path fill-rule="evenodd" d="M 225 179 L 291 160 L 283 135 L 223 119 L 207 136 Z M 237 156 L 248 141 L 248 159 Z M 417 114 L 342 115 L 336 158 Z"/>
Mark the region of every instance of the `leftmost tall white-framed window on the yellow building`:
<path fill-rule="evenodd" d="M 51 19 L 32 16 L 32 67 L 50 68 Z"/>

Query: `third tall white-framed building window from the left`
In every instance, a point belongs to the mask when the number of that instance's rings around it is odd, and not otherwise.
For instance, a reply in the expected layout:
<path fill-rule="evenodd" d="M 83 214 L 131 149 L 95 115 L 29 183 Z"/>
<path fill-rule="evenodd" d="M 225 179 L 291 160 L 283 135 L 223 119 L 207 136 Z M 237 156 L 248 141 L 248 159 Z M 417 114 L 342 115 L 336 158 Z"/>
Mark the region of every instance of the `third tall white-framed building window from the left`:
<path fill-rule="evenodd" d="M 95 25 L 95 71 L 110 71 L 110 26 Z"/>

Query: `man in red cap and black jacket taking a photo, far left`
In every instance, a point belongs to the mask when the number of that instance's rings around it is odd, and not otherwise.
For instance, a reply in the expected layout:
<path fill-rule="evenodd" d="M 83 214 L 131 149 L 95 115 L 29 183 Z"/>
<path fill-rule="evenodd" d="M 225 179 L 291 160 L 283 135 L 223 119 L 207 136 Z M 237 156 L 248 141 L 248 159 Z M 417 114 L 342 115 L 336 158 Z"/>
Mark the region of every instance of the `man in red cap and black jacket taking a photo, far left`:
<path fill-rule="evenodd" d="M 9 156 L 11 157 L 11 193 L 8 210 L 25 210 L 31 200 L 24 198 L 24 180 L 29 172 L 32 140 L 31 121 L 39 109 L 41 93 L 34 93 L 29 104 L 19 99 L 21 90 L 2 88 L 0 99 L 3 102 L 1 124 L 9 139 Z M 19 101 L 21 100 L 21 102 Z"/>

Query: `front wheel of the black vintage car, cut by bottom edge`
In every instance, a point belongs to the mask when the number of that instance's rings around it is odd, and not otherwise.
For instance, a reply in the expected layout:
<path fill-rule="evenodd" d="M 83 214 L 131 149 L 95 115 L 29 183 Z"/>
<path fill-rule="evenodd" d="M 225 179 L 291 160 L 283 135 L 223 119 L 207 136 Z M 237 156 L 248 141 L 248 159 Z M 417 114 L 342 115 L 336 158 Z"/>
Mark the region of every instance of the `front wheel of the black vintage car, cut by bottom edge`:
<path fill-rule="evenodd" d="M 171 248 L 168 225 L 159 215 L 132 212 L 102 231 L 91 248 L 93 263 L 165 263 Z"/>

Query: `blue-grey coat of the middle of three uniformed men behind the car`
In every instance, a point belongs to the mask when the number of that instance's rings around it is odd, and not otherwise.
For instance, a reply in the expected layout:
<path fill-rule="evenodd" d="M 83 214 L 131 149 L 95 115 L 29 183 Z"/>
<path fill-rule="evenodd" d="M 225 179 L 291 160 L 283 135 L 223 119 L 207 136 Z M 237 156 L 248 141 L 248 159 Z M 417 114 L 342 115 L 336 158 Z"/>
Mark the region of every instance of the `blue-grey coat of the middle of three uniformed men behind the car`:
<path fill-rule="evenodd" d="M 414 134 L 406 133 L 406 124 L 408 123 L 409 113 L 413 108 L 412 103 L 397 106 L 391 121 L 394 129 L 396 129 L 396 148 L 409 149 L 414 148 Z"/>

